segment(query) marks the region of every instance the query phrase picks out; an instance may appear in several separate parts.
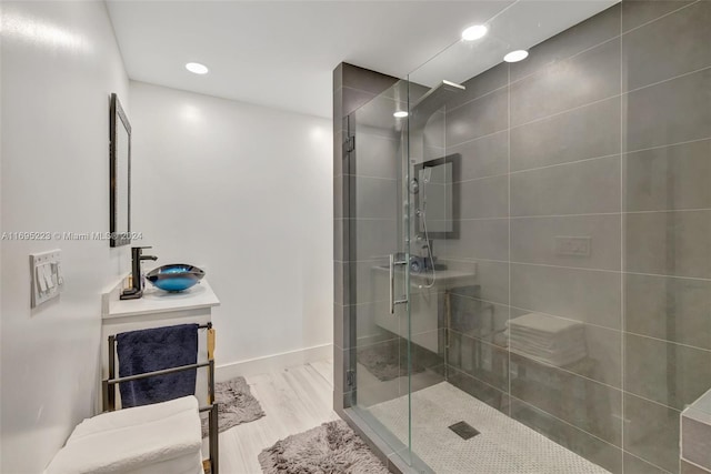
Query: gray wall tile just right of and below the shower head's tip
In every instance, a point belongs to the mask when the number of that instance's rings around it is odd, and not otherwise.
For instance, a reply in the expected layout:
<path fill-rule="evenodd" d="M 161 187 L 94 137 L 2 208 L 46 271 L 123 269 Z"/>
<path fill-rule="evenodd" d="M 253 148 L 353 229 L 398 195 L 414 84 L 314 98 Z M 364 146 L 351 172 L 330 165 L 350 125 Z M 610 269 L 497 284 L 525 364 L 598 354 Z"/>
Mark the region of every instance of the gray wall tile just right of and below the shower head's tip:
<path fill-rule="evenodd" d="M 491 92 L 447 112 L 447 145 L 452 147 L 508 127 L 509 91 Z"/>

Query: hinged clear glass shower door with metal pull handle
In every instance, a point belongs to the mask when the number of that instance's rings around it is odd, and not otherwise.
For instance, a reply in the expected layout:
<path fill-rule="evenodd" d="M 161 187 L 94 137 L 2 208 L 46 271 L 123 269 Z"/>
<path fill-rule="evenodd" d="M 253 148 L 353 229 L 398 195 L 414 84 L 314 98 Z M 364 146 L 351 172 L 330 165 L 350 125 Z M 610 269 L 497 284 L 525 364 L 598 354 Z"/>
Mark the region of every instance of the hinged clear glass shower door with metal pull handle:
<path fill-rule="evenodd" d="M 410 453 L 407 82 L 347 118 L 351 406 L 394 452 Z M 400 117 L 399 117 L 400 115 Z M 402 117 L 404 115 L 404 117 Z"/>

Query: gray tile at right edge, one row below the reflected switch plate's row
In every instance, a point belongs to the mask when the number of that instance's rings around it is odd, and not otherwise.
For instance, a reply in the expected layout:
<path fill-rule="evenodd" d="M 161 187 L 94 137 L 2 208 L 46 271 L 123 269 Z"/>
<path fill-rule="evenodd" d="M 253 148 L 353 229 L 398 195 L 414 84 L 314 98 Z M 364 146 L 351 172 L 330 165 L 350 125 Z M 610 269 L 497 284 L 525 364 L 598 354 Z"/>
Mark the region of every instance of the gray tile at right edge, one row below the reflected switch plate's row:
<path fill-rule="evenodd" d="M 711 350 L 711 281 L 627 274 L 624 292 L 625 331 Z"/>

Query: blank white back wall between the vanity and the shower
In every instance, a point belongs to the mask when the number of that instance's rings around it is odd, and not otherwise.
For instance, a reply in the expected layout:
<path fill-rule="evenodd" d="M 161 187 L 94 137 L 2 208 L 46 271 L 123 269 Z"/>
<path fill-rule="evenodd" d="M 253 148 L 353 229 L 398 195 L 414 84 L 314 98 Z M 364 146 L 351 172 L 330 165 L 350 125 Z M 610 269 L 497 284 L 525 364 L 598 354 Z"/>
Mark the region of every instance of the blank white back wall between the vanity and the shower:
<path fill-rule="evenodd" d="M 207 266 L 218 365 L 330 344 L 330 120 L 133 81 L 130 118 L 133 228 Z"/>

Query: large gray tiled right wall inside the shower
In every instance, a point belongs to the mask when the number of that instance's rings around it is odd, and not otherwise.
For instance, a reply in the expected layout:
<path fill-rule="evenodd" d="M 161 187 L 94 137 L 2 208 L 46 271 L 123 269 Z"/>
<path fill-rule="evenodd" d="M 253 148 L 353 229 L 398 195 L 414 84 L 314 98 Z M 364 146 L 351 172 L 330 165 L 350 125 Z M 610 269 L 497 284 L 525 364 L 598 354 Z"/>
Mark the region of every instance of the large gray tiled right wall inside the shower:
<path fill-rule="evenodd" d="M 711 386 L 711 1 L 623 1 L 465 85 L 461 235 L 434 248 L 479 288 L 449 294 L 449 382 L 611 472 L 680 472 Z M 509 351 L 532 312 L 582 323 L 587 357 Z"/>

